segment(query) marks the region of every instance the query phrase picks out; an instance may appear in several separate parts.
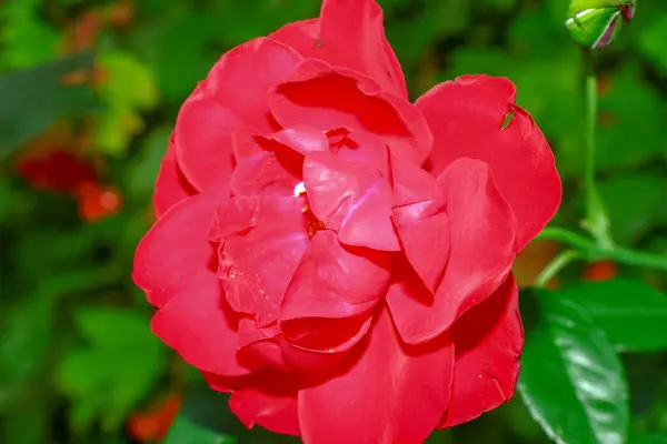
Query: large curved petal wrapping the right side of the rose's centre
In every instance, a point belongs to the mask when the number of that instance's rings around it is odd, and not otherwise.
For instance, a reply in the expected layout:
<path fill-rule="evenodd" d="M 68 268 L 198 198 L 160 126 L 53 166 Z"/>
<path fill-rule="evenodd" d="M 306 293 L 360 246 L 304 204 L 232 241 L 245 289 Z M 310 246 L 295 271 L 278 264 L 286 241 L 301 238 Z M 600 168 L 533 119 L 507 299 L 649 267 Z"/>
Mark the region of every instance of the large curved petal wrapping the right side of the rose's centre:
<path fill-rule="evenodd" d="M 488 165 L 471 159 L 454 162 L 438 179 L 451 235 L 449 260 L 432 302 L 421 290 L 392 285 L 387 294 L 401 337 L 429 341 L 505 281 L 516 256 L 516 222 Z M 438 252 L 434 252 L 438 254 Z"/>

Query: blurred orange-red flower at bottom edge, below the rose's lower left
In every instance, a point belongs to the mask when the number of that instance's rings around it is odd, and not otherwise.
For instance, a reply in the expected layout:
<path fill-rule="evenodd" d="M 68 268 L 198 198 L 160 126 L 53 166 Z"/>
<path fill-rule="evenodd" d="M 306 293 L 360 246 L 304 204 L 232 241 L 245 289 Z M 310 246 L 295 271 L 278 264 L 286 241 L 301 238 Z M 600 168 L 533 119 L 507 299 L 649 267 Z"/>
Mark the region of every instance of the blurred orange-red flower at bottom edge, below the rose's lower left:
<path fill-rule="evenodd" d="M 129 435 L 142 443 L 162 441 L 180 410 L 181 401 L 179 394 L 170 394 L 156 407 L 132 414 L 127 423 Z"/>

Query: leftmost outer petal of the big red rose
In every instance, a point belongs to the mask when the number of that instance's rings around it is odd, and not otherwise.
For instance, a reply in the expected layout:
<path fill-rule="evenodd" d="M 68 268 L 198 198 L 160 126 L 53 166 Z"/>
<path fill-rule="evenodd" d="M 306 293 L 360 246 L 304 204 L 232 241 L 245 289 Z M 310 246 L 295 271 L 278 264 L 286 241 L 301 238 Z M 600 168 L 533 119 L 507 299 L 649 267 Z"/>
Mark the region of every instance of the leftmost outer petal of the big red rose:
<path fill-rule="evenodd" d="M 188 198 L 167 211 L 146 233 L 135 253 L 132 280 L 148 301 L 165 305 L 189 289 L 216 292 L 216 249 L 207 241 L 216 208 L 226 199 L 213 193 Z"/>

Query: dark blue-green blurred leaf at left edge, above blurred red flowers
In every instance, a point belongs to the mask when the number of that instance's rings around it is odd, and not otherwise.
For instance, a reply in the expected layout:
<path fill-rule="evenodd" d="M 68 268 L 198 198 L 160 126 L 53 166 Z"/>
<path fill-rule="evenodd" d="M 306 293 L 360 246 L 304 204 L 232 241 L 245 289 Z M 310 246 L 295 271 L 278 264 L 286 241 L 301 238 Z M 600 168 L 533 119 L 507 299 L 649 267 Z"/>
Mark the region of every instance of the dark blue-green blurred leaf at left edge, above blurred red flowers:
<path fill-rule="evenodd" d="M 89 88 L 59 83 L 61 75 L 87 68 L 92 54 L 80 53 L 0 78 L 0 159 L 63 115 L 96 108 Z"/>

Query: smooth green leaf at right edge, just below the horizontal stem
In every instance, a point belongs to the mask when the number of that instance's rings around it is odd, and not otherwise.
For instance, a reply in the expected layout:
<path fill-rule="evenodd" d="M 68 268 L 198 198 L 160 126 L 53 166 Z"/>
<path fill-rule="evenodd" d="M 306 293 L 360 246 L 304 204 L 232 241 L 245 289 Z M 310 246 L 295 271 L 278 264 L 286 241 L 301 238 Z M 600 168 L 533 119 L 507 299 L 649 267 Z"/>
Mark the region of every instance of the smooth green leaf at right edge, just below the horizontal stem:
<path fill-rule="evenodd" d="M 590 313 L 617 350 L 667 349 L 667 295 L 640 282 L 586 282 L 563 293 Z"/>

